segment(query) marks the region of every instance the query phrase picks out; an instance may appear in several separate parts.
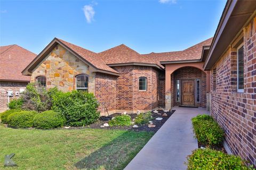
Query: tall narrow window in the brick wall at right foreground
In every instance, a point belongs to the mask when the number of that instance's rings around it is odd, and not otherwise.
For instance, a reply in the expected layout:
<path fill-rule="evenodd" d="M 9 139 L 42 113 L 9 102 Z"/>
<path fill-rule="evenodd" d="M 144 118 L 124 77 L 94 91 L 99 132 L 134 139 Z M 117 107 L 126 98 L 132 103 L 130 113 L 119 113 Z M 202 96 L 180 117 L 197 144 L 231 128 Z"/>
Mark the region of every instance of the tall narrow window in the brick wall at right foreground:
<path fill-rule="evenodd" d="M 237 48 L 237 92 L 244 92 L 244 45 Z"/>

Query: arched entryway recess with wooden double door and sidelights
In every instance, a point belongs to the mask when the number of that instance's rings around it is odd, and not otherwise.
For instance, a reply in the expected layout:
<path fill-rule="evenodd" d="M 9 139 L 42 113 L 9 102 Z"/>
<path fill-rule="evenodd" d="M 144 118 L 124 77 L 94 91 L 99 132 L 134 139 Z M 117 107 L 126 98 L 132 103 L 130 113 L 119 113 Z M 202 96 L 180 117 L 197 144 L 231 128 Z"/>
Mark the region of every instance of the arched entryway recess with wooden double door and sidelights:
<path fill-rule="evenodd" d="M 206 73 L 185 66 L 171 74 L 172 106 L 206 107 Z"/>

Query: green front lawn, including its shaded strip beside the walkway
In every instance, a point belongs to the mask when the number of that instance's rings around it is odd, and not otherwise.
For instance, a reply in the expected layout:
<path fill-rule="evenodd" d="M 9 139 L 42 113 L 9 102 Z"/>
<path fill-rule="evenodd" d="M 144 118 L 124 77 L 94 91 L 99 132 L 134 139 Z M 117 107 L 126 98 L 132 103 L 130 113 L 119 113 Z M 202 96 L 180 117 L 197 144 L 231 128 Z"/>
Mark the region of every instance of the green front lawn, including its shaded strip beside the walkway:
<path fill-rule="evenodd" d="M 123 169 L 153 136 L 121 130 L 11 129 L 0 125 L 0 169 Z M 4 167 L 15 153 L 18 167 Z"/>

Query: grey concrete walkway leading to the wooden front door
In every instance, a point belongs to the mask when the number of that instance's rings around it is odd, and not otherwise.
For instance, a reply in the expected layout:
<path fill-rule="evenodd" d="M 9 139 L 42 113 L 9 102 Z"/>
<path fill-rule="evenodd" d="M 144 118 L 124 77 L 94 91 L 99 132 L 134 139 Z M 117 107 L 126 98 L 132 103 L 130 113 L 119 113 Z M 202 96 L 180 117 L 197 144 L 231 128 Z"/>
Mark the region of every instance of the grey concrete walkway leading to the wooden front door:
<path fill-rule="evenodd" d="M 141 151 L 125 167 L 134 169 L 186 169 L 184 162 L 196 149 L 197 140 L 191 118 L 197 114 L 209 114 L 203 108 L 173 107 L 174 114 L 164 123 Z"/>

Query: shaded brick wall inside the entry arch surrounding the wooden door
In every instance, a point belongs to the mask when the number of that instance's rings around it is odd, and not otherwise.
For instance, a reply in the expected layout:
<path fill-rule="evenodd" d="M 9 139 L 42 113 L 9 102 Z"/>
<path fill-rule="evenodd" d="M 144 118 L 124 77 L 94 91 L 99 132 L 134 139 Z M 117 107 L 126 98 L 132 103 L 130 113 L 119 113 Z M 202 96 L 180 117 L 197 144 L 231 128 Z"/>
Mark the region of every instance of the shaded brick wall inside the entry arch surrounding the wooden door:
<path fill-rule="evenodd" d="M 195 99 L 195 106 L 198 107 L 206 107 L 206 74 L 202 70 L 197 69 L 196 67 L 182 67 L 173 72 L 171 80 L 172 80 L 172 101 L 175 106 L 180 106 L 181 102 L 176 101 L 176 80 L 200 80 L 201 86 L 201 98 L 200 103 L 196 102 Z M 196 84 L 194 84 L 196 86 Z M 182 91 L 182 84 L 180 87 L 180 91 Z M 181 101 L 181 98 L 180 98 Z"/>

